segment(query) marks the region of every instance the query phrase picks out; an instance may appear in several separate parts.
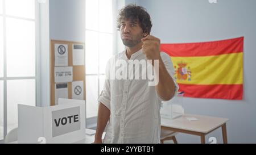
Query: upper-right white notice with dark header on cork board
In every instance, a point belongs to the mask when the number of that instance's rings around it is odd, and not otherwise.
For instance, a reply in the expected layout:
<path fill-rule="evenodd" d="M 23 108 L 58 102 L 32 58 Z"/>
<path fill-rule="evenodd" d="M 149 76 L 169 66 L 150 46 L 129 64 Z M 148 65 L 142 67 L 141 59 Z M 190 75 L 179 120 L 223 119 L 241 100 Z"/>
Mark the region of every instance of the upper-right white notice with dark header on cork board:
<path fill-rule="evenodd" d="M 73 66 L 84 65 L 84 45 L 73 44 Z"/>

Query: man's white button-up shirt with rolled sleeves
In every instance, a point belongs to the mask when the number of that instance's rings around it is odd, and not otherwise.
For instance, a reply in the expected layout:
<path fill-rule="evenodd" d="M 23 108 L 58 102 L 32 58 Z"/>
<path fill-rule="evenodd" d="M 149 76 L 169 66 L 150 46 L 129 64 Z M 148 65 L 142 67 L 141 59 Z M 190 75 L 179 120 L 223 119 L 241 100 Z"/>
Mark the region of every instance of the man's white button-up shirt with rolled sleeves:
<path fill-rule="evenodd" d="M 172 79 L 174 68 L 170 56 L 160 56 Z M 131 55 L 130 60 L 146 60 L 142 50 Z M 103 143 L 160 143 L 160 104 L 155 86 L 148 86 L 147 79 L 110 79 L 110 70 L 117 60 L 128 63 L 126 52 L 110 58 L 106 68 L 106 80 L 98 102 L 110 110 Z M 178 86 L 175 82 L 175 95 Z"/>

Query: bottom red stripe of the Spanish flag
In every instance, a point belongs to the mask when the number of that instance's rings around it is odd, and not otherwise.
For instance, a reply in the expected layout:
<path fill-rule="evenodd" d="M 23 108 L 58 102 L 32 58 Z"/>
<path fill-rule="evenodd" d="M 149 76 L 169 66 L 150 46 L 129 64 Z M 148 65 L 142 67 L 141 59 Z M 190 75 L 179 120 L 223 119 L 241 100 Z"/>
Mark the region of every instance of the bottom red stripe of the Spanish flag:
<path fill-rule="evenodd" d="M 186 85 L 179 83 L 184 97 L 242 100 L 243 85 Z"/>

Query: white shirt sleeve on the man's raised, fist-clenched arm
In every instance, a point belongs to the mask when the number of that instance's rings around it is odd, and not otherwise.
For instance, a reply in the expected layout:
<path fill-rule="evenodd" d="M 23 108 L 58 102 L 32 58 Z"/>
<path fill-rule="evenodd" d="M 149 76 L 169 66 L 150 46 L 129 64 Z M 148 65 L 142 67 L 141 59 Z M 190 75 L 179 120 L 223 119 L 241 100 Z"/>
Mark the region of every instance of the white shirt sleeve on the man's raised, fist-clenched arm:
<path fill-rule="evenodd" d="M 176 79 L 174 78 L 174 66 L 172 64 L 171 58 L 169 55 L 167 55 L 164 52 L 160 52 L 160 56 L 164 62 L 164 66 L 166 66 L 167 72 L 170 74 L 170 76 L 172 77 L 172 80 L 174 81 L 174 85 L 175 85 L 175 94 L 174 97 L 177 95 L 177 91 L 179 90 L 179 85 L 177 85 Z"/>

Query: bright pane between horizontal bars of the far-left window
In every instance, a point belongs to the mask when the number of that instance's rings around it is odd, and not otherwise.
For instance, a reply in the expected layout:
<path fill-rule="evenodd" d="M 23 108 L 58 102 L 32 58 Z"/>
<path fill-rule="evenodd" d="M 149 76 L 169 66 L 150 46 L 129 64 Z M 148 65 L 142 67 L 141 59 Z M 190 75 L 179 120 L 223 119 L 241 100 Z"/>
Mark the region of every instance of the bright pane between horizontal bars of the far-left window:
<path fill-rule="evenodd" d="M 6 18 L 7 77 L 35 77 L 35 22 Z"/>

